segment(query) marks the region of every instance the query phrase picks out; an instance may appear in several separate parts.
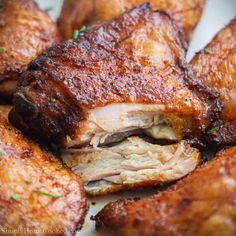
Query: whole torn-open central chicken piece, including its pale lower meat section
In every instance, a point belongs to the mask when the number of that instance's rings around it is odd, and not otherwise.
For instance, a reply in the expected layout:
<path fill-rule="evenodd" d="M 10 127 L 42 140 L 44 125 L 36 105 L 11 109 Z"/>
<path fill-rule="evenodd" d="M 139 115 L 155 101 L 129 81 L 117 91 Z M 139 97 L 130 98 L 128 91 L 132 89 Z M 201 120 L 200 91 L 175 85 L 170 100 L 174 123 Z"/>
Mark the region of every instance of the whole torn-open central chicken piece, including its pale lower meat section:
<path fill-rule="evenodd" d="M 144 4 L 34 60 L 10 119 L 59 144 L 89 193 L 183 177 L 199 163 L 199 152 L 186 142 L 162 147 L 156 140 L 200 137 L 220 110 L 216 96 L 192 76 L 185 53 L 169 15 Z M 154 144 L 126 139 L 134 135 Z M 87 179 L 93 168 L 101 173 Z"/>

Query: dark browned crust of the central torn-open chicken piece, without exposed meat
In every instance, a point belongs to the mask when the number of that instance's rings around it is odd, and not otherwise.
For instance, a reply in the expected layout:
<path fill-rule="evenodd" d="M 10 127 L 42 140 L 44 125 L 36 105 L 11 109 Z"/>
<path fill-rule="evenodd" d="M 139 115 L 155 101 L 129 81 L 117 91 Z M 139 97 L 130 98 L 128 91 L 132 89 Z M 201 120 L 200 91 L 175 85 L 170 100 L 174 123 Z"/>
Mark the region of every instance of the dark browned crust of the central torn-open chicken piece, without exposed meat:
<path fill-rule="evenodd" d="M 155 32 L 170 50 L 169 57 L 160 54 L 163 66 L 150 63 L 132 46 L 137 29 Z M 57 142 L 73 136 L 86 109 L 160 103 L 167 112 L 190 120 L 186 136 L 199 137 L 221 106 L 192 75 L 186 48 L 181 30 L 168 14 L 141 5 L 35 59 L 18 84 L 11 120 L 28 133 Z"/>

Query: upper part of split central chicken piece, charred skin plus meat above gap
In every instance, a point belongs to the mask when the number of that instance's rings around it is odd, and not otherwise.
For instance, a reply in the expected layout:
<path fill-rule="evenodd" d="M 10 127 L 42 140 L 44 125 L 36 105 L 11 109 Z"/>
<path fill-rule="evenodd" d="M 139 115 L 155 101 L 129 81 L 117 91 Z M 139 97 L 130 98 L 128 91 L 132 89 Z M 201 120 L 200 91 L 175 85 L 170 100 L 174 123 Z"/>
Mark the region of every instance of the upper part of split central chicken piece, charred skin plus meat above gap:
<path fill-rule="evenodd" d="M 10 119 L 66 148 L 140 132 L 171 141 L 199 137 L 221 107 L 185 55 L 169 15 L 143 4 L 30 63 Z"/>

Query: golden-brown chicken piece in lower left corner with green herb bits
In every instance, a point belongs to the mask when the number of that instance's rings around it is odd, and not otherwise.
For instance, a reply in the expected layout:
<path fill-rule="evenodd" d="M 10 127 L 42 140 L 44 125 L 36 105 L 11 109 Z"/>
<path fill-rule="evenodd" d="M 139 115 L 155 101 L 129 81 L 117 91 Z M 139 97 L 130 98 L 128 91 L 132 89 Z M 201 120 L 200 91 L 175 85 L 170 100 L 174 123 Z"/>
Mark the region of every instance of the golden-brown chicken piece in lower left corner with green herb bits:
<path fill-rule="evenodd" d="M 87 211 L 80 178 L 7 123 L 6 111 L 0 107 L 0 234 L 73 235 Z"/>

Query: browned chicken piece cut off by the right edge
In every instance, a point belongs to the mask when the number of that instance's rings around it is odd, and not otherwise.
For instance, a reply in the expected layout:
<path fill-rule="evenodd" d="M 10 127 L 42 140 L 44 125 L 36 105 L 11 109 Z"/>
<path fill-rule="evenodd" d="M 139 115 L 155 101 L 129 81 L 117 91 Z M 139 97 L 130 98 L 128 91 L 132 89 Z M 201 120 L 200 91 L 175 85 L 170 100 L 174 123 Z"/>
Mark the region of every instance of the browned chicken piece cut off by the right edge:
<path fill-rule="evenodd" d="M 191 61 L 196 76 L 220 94 L 221 119 L 206 135 L 211 144 L 236 144 L 236 19 L 222 29 Z"/>

